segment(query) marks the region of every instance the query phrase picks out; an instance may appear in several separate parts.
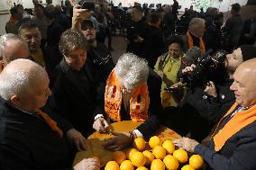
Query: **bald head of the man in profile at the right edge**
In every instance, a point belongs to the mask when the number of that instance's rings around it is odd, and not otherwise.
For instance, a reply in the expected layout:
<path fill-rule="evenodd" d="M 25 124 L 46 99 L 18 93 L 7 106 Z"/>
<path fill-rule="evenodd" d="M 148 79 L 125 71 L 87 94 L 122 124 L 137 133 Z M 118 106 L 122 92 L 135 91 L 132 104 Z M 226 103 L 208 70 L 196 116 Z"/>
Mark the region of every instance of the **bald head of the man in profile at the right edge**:
<path fill-rule="evenodd" d="M 242 106 L 256 104 L 256 58 L 243 62 L 233 74 L 233 90 L 236 102 Z"/>

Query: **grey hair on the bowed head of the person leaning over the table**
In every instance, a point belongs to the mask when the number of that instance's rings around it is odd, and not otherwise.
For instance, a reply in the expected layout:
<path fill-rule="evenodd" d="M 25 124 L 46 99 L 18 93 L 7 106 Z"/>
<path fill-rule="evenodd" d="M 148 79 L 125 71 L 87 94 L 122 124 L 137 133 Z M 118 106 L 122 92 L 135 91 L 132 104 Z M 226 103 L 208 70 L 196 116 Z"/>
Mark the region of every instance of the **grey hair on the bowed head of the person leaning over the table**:
<path fill-rule="evenodd" d="M 149 67 L 145 59 L 139 58 L 132 53 L 125 53 L 121 56 L 115 66 L 115 75 L 123 80 L 126 89 L 147 82 L 149 76 Z"/>

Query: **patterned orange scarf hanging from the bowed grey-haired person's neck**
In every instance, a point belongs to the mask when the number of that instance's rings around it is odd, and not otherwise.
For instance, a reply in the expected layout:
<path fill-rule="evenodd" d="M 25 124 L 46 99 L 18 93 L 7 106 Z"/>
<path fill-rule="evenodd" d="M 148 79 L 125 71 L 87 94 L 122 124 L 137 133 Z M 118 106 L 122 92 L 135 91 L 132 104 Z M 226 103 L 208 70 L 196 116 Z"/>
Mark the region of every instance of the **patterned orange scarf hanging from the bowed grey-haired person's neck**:
<path fill-rule="evenodd" d="M 113 70 L 107 78 L 105 86 L 105 113 L 114 121 L 121 121 L 122 91 Z M 133 90 L 130 98 L 130 115 L 133 121 L 146 121 L 150 97 L 148 85 L 140 85 Z"/>

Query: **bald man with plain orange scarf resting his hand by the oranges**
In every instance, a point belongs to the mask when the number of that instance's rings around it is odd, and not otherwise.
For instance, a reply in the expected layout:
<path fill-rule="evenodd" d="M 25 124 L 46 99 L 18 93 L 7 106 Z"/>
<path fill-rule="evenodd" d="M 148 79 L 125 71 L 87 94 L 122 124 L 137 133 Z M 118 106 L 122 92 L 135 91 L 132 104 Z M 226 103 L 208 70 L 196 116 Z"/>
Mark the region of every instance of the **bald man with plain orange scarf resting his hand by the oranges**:
<path fill-rule="evenodd" d="M 256 58 L 237 67 L 230 89 L 235 103 L 219 121 L 205 147 L 194 139 L 176 139 L 174 144 L 206 160 L 205 169 L 256 169 Z"/>

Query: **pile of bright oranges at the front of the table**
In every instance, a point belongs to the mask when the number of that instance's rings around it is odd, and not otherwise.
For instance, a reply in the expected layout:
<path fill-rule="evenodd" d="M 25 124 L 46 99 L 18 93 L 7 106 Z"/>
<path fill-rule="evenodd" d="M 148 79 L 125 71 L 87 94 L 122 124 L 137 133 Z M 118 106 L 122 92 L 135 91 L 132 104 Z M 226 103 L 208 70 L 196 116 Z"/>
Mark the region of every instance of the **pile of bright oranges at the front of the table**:
<path fill-rule="evenodd" d="M 196 170 L 204 164 L 199 155 L 188 159 L 187 151 L 175 150 L 170 140 L 162 143 L 159 137 L 154 136 L 148 144 L 149 147 L 142 138 L 134 139 L 133 148 L 113 153 L 112 161 L 105 165 L 105 170 L 177 170 L 180 167 L 181 170 Z"/>

